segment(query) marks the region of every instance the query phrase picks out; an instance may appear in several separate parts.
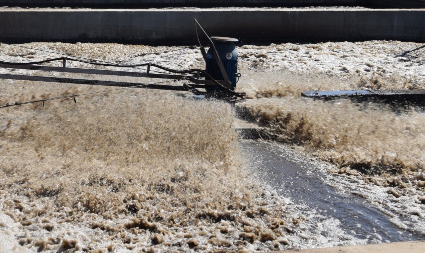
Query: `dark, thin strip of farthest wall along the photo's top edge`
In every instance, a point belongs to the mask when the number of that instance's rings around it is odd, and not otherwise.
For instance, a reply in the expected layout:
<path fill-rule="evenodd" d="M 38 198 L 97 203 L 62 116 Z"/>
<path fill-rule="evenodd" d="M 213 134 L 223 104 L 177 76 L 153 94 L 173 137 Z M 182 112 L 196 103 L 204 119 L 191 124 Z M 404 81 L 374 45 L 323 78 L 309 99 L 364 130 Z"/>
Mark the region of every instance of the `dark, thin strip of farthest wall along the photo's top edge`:
<path fill-rule="evenodd" d="M 150 6 L 367 6 L 425 8 L 425 0 L 0 0 L 0 6 L 150 7 Z"/>

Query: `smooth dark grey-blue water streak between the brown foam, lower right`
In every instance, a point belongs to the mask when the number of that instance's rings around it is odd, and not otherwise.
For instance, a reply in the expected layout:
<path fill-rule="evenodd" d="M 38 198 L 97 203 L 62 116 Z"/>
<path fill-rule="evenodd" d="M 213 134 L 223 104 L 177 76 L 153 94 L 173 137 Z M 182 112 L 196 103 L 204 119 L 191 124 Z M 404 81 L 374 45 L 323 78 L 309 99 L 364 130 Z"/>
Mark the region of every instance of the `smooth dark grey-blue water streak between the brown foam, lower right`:
<path fill-rule="evenodd" d="M 325 169 L 314 162 L 294 156 L 278 144 L 241 140 L 240 145 L 257 174 L 278 194 L 296 204 L 305 204 L 323 216 L 338 219 L 348 235 L 368 243 L 424 240 L 420 233 L 400 229 L 388 215 L 354 194 L 338 192 L 325 183 Z M 326 235 L 324 235 L 326 236 Z"/>

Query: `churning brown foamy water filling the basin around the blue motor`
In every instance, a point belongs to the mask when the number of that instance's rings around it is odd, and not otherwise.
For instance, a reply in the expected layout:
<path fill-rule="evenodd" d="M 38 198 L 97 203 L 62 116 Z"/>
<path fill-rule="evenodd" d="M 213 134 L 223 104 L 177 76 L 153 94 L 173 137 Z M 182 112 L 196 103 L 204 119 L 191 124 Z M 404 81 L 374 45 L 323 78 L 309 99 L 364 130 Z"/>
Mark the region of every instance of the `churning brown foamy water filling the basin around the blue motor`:
<path fill-rule="evenodd" d="M 203 65 L 195 47 L 26 46 L 111 62 Z M 424 239 L 424 114 L 299 97 L 315 89 L 424 88 L 424 49 L 416 47 L 240 48 L 238 89 L 249 99 L 238 106 L 286 144 L 238 140 L 228 104 L 165 91 L 4 109 L 3 249 L 264 251 Z M 57 56 L 0 49 L 7 61 Z M 0 104 L 104 89 L 7 80 L 0 88 Z"/>

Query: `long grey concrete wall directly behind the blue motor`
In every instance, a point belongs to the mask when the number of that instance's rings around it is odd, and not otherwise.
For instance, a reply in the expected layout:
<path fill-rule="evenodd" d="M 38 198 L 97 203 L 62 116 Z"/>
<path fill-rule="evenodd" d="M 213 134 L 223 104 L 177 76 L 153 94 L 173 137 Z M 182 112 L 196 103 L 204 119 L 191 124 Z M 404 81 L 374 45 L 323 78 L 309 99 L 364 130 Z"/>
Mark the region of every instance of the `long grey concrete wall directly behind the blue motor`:
<path fill-rule="evenodd" d="M 425 10 L 0 10 L 0 41 L 196 44 L 193 19 L 210 36 L 242 42 L 425 42 Z"/>

